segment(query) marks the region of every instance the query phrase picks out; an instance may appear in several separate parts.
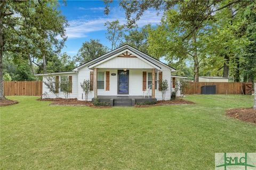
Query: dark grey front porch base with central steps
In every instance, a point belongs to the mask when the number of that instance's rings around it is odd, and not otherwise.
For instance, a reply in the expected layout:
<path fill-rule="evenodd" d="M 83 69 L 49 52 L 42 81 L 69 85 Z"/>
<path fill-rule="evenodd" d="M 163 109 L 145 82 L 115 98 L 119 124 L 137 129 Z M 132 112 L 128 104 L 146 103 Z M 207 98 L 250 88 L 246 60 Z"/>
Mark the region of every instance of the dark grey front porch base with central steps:
<path fill-rule="evenodd" d="M 136 103 L 156 102 L 156 98 L 143 96 L 98 96 L 100 102 L 109 102 L 110 106 L 134 106 Z M 94 98 L 92 99 L 92 101 Z"/>

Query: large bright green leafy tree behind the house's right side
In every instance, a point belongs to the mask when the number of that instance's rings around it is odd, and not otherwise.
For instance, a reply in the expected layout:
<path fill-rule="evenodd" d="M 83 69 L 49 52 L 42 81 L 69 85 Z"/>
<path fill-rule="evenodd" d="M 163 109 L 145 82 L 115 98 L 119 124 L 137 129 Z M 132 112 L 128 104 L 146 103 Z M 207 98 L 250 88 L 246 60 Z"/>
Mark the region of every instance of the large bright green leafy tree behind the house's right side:
<path fill-rule="evenodd" d="M 199 64 L 207 56 L 207 50 L 205 50 L 204 44 L 205 41 L 203 41 L 205 39 L 203 38 L 205 33 L 208 32 L 207 29 L 211 29 L 209 23 L 216 21 L 215 14 L 223 9 L 233 8 L 235 5 L 239 5 L 239 9 L 246 6 L 246 3 L 250 4 L 252 2 L 253 1 L 239 0 L 121 1 L 119 6 L 125 10 L 128 28 L 132 27 L 148 9 L 154 8 L 157 11 L 164 11 L 165 15 L 163 20 L 167 24 L 162 24 L 162 28 L 158 27 L 155 34 L 152 33 L 153 36 L 151 35 L 151 40 L 153 43 L 149 42 L 149 50 L 154 52 L 154 54 L 156 53 L 156 57 L 160 57 L 160 54 L 162 56 L 169 55 L 167 57 L 172 57 L 174 61 L 182 61 L 185 58 L 191 58 L 194 61 L 195 81 L 198 81 Z M 111 1 L 106 0 L 105 3 L 105 13 L 108 14 L 110 11 L 109 3 L 111 3 Z M 237 8 L 235 10 L 237 10 Z M 165 20 L 166 15 L 167 19 Z M 163 38 L 161 36 L 163 36 Z M 154 38 L 157 38 L 157 40 L 154 40 Z M 158 45 L 154 47 L 154 43 L 157 41 Z M 168 41 L 172 42 L 168 43 Z M 154 49 L 156 47 L 158 47 L 158 49 Z M 181 55 L 178 55 L 179 50 Z M 172 54 L 173 52 L 176 52 L 176 54 Z M 236 70 L 239 71 L 239 69 Z"/>

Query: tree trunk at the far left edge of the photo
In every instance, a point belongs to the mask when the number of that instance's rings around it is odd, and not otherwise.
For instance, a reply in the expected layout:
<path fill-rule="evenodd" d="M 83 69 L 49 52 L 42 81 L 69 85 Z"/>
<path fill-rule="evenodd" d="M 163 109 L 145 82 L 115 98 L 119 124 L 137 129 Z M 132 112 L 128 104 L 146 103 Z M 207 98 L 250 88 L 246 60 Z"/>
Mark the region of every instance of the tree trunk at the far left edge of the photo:
<path fill-rule="evenodd" d="M 4 37 L 3 37 L 3 12 L 0 11 L 0 100 L 4 97 L 4 80 L 3 80 L 3 51 L 4 51 Z"/>

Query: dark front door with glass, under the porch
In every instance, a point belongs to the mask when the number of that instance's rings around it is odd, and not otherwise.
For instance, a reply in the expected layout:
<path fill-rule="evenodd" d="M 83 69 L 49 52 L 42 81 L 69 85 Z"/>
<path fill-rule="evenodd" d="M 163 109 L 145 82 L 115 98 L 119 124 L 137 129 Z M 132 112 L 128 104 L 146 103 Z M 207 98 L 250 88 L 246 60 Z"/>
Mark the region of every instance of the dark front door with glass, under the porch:
<path fill-rule="evenodd" d="M 118 70 L 117 75 L 117 94 L 129 95 L 129 70 Z"/>

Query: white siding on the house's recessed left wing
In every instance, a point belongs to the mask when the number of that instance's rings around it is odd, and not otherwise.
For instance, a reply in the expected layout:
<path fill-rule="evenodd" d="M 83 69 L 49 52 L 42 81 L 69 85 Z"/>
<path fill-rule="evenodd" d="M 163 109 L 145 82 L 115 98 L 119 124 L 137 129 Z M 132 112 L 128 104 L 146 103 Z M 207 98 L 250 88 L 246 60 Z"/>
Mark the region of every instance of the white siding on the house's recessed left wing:
<path fill-rule="evenodd" d="M 54 74 L 53 77 L 55 79 L 55 76 L 57 76 L 58 74 Z M 73 74 L 59 74 L 59 81 L 60 81 L 60 77 L 62 76 L 72 76 L 72 93 L 70 93 L 70 98 L 77 98 L 77 74 L 73 73 Z M 43 77 L 43 82 L 46 81 L 46 78 Z M 47 87 L 45 86 L 45 84 L 43 83 L 43 94 L 47 92 L 46 98 L 56 98 L 56 96 L 54 94 L 52 94 L 51 92 L 49 92 L 49 89 L 47 89 Z M 60 98 L 65 98 L 65 96 L 63 95 L 63 92 L 60 91 L 59 88 L 59 96 Z"/>

